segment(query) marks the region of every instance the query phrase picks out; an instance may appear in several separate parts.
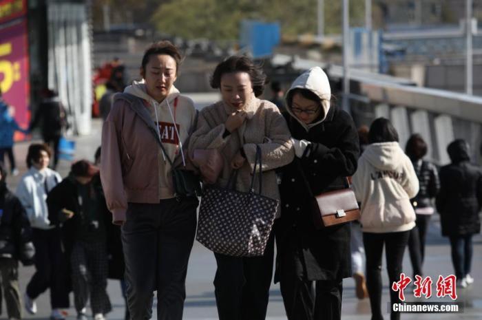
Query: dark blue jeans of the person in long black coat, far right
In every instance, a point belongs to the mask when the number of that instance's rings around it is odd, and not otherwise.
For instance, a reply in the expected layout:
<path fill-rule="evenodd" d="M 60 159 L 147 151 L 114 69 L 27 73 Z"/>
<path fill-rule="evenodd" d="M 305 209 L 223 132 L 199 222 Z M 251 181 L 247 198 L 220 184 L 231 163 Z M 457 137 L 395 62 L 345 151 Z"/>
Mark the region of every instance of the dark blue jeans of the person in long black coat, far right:
<path fill-rule="evenodd" d="M 450 247 L 452 248 L 452 264 L 454 264 L 457 279 L 462 279 L 470 273 L 472 266 L 473 235 L 451 235 Z"/>

